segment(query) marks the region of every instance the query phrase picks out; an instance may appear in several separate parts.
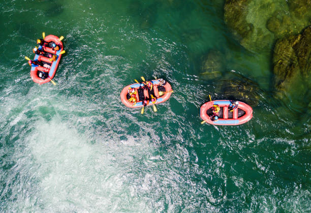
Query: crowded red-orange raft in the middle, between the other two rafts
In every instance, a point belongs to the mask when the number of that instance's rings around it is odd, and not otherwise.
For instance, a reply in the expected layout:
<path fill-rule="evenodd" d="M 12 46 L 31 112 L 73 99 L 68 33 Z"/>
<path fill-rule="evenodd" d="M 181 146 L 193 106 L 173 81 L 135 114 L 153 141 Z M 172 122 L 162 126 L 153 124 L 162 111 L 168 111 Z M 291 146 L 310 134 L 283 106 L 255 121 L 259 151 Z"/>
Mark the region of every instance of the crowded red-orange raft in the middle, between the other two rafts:
<path fill-rule="evenodd" d="M 165 82 L 164 84 L 160 85 L 160 81 L 159 79 L 157 80 L 152 80 L 150 81 L 153 84 L 152 89 L 150 90 L 148 89 L 144 89 L 140 86 L 140 84 L 131 84 L 126 86 L 125 88 L 123 88 L 123 90 L 121 91 L 121 101 L 122 103 L 124 103 L 127 107 L 129 108 L 139 108 L 142 107 L 142 101 L 143 100 L 150 100 L 151 99 L 151 95 L 153 95 L 154 97 L 157 98 L 157 101 L 155 103 L 152 103 L 151 101 L 148 101 L 147 105 L 152 105 L 152 104 L 158 104 L 158 103 L 162 103 L 164 101 L 166 101 L 167 99 L 169 99 L 169 97 L 171 96 L 171 92 L 172 88 L 171 85 L 168 82 Z M 130 102 L 130 94 L 129 92 L 129 87 L 134 88 L 136 91 L 136 104 L 134 105 L 133 102 Z M 160 96 L 159 92 L 166 92 L 163 95 Z"/>

